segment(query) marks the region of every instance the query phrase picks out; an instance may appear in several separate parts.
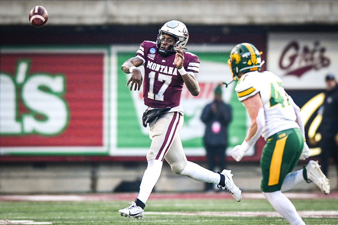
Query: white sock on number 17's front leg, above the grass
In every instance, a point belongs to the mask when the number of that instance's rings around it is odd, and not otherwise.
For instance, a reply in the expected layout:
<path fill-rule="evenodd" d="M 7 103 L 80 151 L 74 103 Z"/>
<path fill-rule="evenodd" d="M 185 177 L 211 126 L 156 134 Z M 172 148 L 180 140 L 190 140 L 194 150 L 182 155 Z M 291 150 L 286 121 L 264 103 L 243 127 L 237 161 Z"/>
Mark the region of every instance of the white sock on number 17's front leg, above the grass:
<path fill-rule="evenodd" d="M 152 189 L 160 177 L 162 165 L 163 162 L 161 160 L 152 159 L 148 161 L 147 169 L 142 177 L 139 196 L 137 196 L 144 204 L 147 202 Z"/>

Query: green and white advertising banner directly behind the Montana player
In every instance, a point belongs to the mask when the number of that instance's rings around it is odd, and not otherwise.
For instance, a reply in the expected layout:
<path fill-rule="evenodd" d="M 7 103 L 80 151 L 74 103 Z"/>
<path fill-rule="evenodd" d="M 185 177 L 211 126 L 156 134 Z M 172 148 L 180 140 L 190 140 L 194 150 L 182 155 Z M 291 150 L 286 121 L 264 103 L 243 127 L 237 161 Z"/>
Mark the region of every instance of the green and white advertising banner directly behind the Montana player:
<path fill-rule="evenodd" d="M 118 67 L 116 72 L 112 70 L 112 77 L 115 78 L 114 73 L 117 73 L 117 124 L 112 124 L 112 127 L 116 126 L 117 128 L 117 142 L 116 148 L 111 148 L 111 155 L 145 156 L 150 147 L 149 127 L 144 128 L 142 125 L 142 114 L 147 109 L 143 102 L 143 90 L 141 88 L 140 91 L 130 91 L 126 87 L 130 74 L 125 74 L 121 70 L 123 62 L 135 57 L 138 48 L 139 46 L 112 48 L 112 57 L 116 56 L 117 63 L 115 64 Z M 200 85 L 200 94 L 196 97 L 192 96 L 184 85 L 181 97 L 181 104 L 185 111 L 184 125 L 179 132 L 179 136 L 187 156 L 203 156 L 205 154 L 202 143 L 204 124 L 200 120 L 200 114 L 203 107 L 213 100 L 213 92 L 217 84 L 222 81 L 230 82 L 232 80 L 226 63 L 232 48 L 233 46 L 189 47 L 189 52 L 197 55 L 200 59 L 200 71 L 196 74 Z M 142 71 L 142 66 L 139 68 Z M 112 87 L 114 86 L 113 83 L 114 81 L 112 80 Z M 230 103 L 233 108 L 233 121 L 229 128 L 230 146 L 228 150 L 242 143 L 248 125 L 245 108 L 237 100 L 234 88 L 235 82 L 231 83 L 227 88 L 223 86 L 223 99 L 225 102 Z M 112 112 L 114 111 L 112 109 Z M 113 135 L 113 132 L 111 134 Z M 114 140 L 114 137 L 111 140 Z M 251 149 L 248 155 L 253 153 L 253 149 Z"/>

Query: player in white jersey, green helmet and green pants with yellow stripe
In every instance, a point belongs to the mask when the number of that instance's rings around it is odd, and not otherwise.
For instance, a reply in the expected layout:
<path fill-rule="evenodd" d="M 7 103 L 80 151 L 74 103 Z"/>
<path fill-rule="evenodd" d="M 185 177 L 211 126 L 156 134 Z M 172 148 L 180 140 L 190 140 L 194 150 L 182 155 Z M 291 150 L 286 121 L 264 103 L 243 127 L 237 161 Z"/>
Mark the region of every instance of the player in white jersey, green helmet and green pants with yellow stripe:
<path fill-rule="evenodd" d="M 279 77 L 268 71 L 259 72 L 261 54 L 255 46 L 242 43 L 233 48 L 228 60 L 233 79 L 238 80 L 238 100 L 251 119 L 245 140 L 233 148 L 231 156 L 240 161 L 262 135 L 266 140 L 261 156 L 263 194 L 290 224 L 305 224 L 282 192 L 305 180 L 329 194 L 330 182 L 318 161 L 311 160 L 304 169 L 291 173 L 298 159 L 305 160 L 310 154 L 300 109 L 285 92 Z"/>

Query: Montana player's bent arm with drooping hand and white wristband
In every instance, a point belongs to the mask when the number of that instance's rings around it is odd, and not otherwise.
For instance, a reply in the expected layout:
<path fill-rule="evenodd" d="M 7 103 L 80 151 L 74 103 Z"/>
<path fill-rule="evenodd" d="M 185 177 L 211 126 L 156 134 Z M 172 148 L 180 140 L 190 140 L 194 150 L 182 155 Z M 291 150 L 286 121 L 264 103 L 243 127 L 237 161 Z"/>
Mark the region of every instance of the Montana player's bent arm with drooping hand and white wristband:
<path fill-rule="evenodd" d="M 131 77 L 127 82 L 127 85 L 129 85 L 129 83 L 131 82 L 130 85 L 130 90 L 132 90 L 132 87 L 135 84 L 135 88 L 134 90 L 138 89 L 140 90 L 141 85 L 142 85 L 142 74 L 141 71 L 137 68 L 138 66 L 142 65 L 144 62 L 142 59 L 140 59 L 139 57 L 132 57 L 130 59 L 128 59 L 127 61 L 125 61 L 122 66 L 121 69 L 123 70 L 124 73 L 126 74 L 130 74 L 131 73 Z"/>

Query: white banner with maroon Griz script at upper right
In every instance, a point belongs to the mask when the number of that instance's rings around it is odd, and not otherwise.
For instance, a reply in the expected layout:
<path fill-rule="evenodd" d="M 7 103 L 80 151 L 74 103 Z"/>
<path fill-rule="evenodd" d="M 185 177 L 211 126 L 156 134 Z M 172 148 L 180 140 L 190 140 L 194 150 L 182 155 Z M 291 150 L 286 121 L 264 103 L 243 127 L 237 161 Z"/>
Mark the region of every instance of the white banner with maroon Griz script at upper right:
<path fill-rule="evenodd" d="M 338 33 L 269 33 L 267 70 L 286 89 L 324 89 L 325 76 L 338 78 Z"/>

